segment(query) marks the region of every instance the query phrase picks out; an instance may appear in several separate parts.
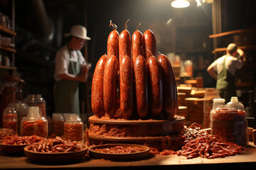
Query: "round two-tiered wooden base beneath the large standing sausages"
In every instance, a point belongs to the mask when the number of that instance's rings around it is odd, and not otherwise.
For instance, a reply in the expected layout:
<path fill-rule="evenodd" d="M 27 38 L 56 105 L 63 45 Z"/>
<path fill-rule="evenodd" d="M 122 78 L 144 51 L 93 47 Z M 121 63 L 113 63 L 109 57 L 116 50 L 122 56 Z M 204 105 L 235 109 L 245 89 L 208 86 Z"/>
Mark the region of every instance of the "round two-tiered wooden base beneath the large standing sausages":
<path fill-rule="evenodd" d="M 124 120 L 89 118 L 88 140 L 91 145 L 130 143 L 157 149 L 178 149 L 183 145 L 185 118 L 174 120 Z"/>

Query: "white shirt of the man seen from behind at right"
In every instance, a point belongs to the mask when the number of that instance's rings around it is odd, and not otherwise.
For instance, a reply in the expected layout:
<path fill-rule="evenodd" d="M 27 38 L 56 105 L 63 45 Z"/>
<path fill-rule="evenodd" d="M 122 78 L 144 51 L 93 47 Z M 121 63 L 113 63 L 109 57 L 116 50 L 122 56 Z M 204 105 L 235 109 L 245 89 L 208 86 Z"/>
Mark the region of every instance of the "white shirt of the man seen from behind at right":
<path fill-rule="evenodd" d="M 236 69 L 242 68 L 242 60 L 238 59 L 238 57 L 223 55 L 223 57 L 218 58 L 211 64 L 213 66 L 213 69 L 215 70 L 215 72 L 217 72 L 217 74 L 219 74 L 220 71 L 223 69 L 223 62 L 225 57 L 227 57 L 225 60 L 225 67 L 233 76 L 235 76 Z"/>

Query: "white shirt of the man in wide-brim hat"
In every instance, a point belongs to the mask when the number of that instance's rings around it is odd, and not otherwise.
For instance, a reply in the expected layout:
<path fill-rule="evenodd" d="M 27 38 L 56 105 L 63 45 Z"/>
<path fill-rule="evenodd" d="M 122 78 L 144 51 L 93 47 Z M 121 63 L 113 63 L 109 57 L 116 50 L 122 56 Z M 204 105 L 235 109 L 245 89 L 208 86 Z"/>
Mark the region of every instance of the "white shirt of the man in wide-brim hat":
<path fill-rule="evenodd" d="M 71 55 L 71 57 L 70 57 Z M 68 66 L 70 61 L 79 62 L 80 64 L 85 64 L 85 58 L 82 57 L 82 52 L 80 50 L 70 50 L 70 55 L 68 52 L 68 45 L 65 45 L 58 50 L 55 55 L 55 72 L 54 79 L 60 81 L 59 74 L 68 74 Z"/>

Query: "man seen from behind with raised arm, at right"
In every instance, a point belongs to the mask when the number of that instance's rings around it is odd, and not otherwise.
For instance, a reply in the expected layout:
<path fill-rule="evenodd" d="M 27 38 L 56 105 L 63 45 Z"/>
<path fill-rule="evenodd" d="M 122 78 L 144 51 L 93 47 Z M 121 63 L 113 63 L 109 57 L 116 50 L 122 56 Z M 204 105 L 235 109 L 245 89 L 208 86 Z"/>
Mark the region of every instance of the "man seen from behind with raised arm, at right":
<path fill-rule="evenodd" d="M 230 43 L 226 52 L 226 55 L 210 64 L 207 71 L 213 79 L 217 80 L 216 89 L 220 92 L 220 98 L 225 98 L 225 102 L 228 103 L 232 96 L 236 96 L 235 72 L 242 68 L 245 55 L 235 43 Z"/>

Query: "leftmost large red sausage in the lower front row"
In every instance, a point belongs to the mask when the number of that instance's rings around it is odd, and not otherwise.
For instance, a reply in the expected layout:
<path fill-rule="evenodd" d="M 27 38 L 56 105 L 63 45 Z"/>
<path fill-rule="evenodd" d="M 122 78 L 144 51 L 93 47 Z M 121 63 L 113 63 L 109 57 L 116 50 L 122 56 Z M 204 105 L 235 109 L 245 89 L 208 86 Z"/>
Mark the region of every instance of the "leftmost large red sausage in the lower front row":
<path fill-rule="evenodd" d="M 92 113 L 98 117 L 105 115 L 104 102 L 103 102 L 103 77 L 105 63 L 107 62 L 107 55 L 102 55 L 97 62 L 95 72 L 92 77 Z"/>

